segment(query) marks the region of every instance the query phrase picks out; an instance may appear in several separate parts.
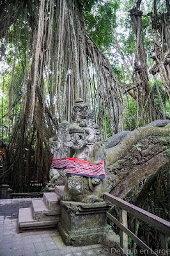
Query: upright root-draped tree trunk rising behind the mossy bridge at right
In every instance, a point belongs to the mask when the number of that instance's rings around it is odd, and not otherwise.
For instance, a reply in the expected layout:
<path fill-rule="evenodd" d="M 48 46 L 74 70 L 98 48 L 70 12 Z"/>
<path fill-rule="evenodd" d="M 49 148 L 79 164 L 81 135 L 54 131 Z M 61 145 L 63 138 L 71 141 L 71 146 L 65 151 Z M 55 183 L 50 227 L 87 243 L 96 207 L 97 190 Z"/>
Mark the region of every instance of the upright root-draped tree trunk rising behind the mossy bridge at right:
<path fill-rule="evenodd" d="M 136 51 L 134 62 L 134 74 L 141 80 L 138 88 L 140 115 L 144 122 L 151 122 L 155 119 L 163 118 L 153 99 L 153 93 L 149 85 L 148 70 L 146 63 L 146 53 L 144 51 L 141 17 L 143 12 L 140 10 L 141 0 L 138 0 L 135 8 L 130 10 L 130 18 L 136 36 Z"/>

